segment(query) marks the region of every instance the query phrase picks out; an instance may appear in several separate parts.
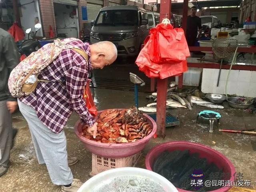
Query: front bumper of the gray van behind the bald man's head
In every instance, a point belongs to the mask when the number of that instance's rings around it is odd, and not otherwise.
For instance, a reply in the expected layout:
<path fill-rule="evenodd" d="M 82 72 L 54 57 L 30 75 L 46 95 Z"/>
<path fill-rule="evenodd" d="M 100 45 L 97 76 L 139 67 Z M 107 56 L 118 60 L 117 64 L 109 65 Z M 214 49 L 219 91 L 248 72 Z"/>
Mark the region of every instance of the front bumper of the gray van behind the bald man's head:
<path fill-rule="evenodd" d="M 98 40 L 92 37 L 90 38 L 90 42 L 92 44 L 100 41 L 101 40 Z M 111 42 L 115 44 L 118 51 L 118 56 L 137 56 L 140 52 L 141 44 L 138 37 L 125 39 L 122 41 L 111 41 Z"/>

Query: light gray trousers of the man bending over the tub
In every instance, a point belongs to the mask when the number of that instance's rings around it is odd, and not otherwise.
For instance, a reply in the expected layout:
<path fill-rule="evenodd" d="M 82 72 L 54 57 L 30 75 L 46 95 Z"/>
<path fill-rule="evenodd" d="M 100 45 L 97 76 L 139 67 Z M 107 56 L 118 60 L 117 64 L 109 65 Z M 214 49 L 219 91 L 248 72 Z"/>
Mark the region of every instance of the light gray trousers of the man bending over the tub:
<path fill-rule="evenodd" d="M 39 164 L 46 164 L 53 184 L 68 185 L 73 175 L 68 167 L 66 136 L 64 130 L 55 134 L 38 118 L 36 110 L 18 100 L 20 112 L 28 122 Z"/>

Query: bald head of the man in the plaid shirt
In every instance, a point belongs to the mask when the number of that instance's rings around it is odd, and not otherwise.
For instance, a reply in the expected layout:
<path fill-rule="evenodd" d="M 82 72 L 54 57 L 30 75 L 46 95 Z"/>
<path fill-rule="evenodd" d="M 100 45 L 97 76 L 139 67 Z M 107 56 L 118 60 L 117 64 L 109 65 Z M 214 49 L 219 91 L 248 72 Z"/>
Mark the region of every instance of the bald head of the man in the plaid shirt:
<path fill-rule="evenodd" d="M 110 41 L 90 45 L 92 68 L 103 68 L 112 64 L 117 58 L 116 46 Z"/>

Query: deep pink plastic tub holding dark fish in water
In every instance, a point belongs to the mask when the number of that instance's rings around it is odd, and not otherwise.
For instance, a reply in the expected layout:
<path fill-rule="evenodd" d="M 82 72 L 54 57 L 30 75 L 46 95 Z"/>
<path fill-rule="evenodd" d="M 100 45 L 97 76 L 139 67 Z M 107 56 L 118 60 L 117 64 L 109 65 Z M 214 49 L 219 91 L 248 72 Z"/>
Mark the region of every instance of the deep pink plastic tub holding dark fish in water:
<path fill-rule="evenodd" d="M 236 173 L 236 170 L 233 166 L 233 164 L 226 158 L 224 155 L 222 155 L 220 152 L 202 145 L 198 143 L 193 142 L 186 142 L 186 141 L 171 141 L 159 144 L 152 148 L 150 152 L 148 152 L 146 156 L 146 169 L 152 171 L 152 166 L 154 164 L 154 161 L 156 158 L 165 150 L 173 151 L 173 150 L 190 150 L 190 153 L 199 153 L 200 158 L 207 158 L 208 162 L 214 162 L 216 166 L 223 167 L 224 173 L 228 173 L 231 177 L 230 178 L 224 178 L 225 180 L 231 180 L 234 181 L 234 175 Z M 231 188 L 231 186 L 225 186 L 222 188 L 219 188 L 218 190 L 213 190 L 211 192 L 226 192 Z M 177 188 L 179 192 L 189 192 L 187 190 L 182 190 L 180 188 Z"/>

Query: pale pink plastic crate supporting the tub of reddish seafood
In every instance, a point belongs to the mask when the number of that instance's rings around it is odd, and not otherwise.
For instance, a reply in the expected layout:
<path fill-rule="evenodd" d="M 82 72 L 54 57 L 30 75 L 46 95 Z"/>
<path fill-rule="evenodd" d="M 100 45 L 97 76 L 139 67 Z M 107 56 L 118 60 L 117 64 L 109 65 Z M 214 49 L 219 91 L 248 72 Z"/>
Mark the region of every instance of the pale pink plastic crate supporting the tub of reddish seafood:
<path fill-rule="evenodd" d="M 138 152 L 132 156 L 123 158 L 108 158 L 92 154 L 92 172 L 90 175 L 94 176 L 100 172 L 114 168 L 134 167 L 141 154 L 141 152 Z"/>

